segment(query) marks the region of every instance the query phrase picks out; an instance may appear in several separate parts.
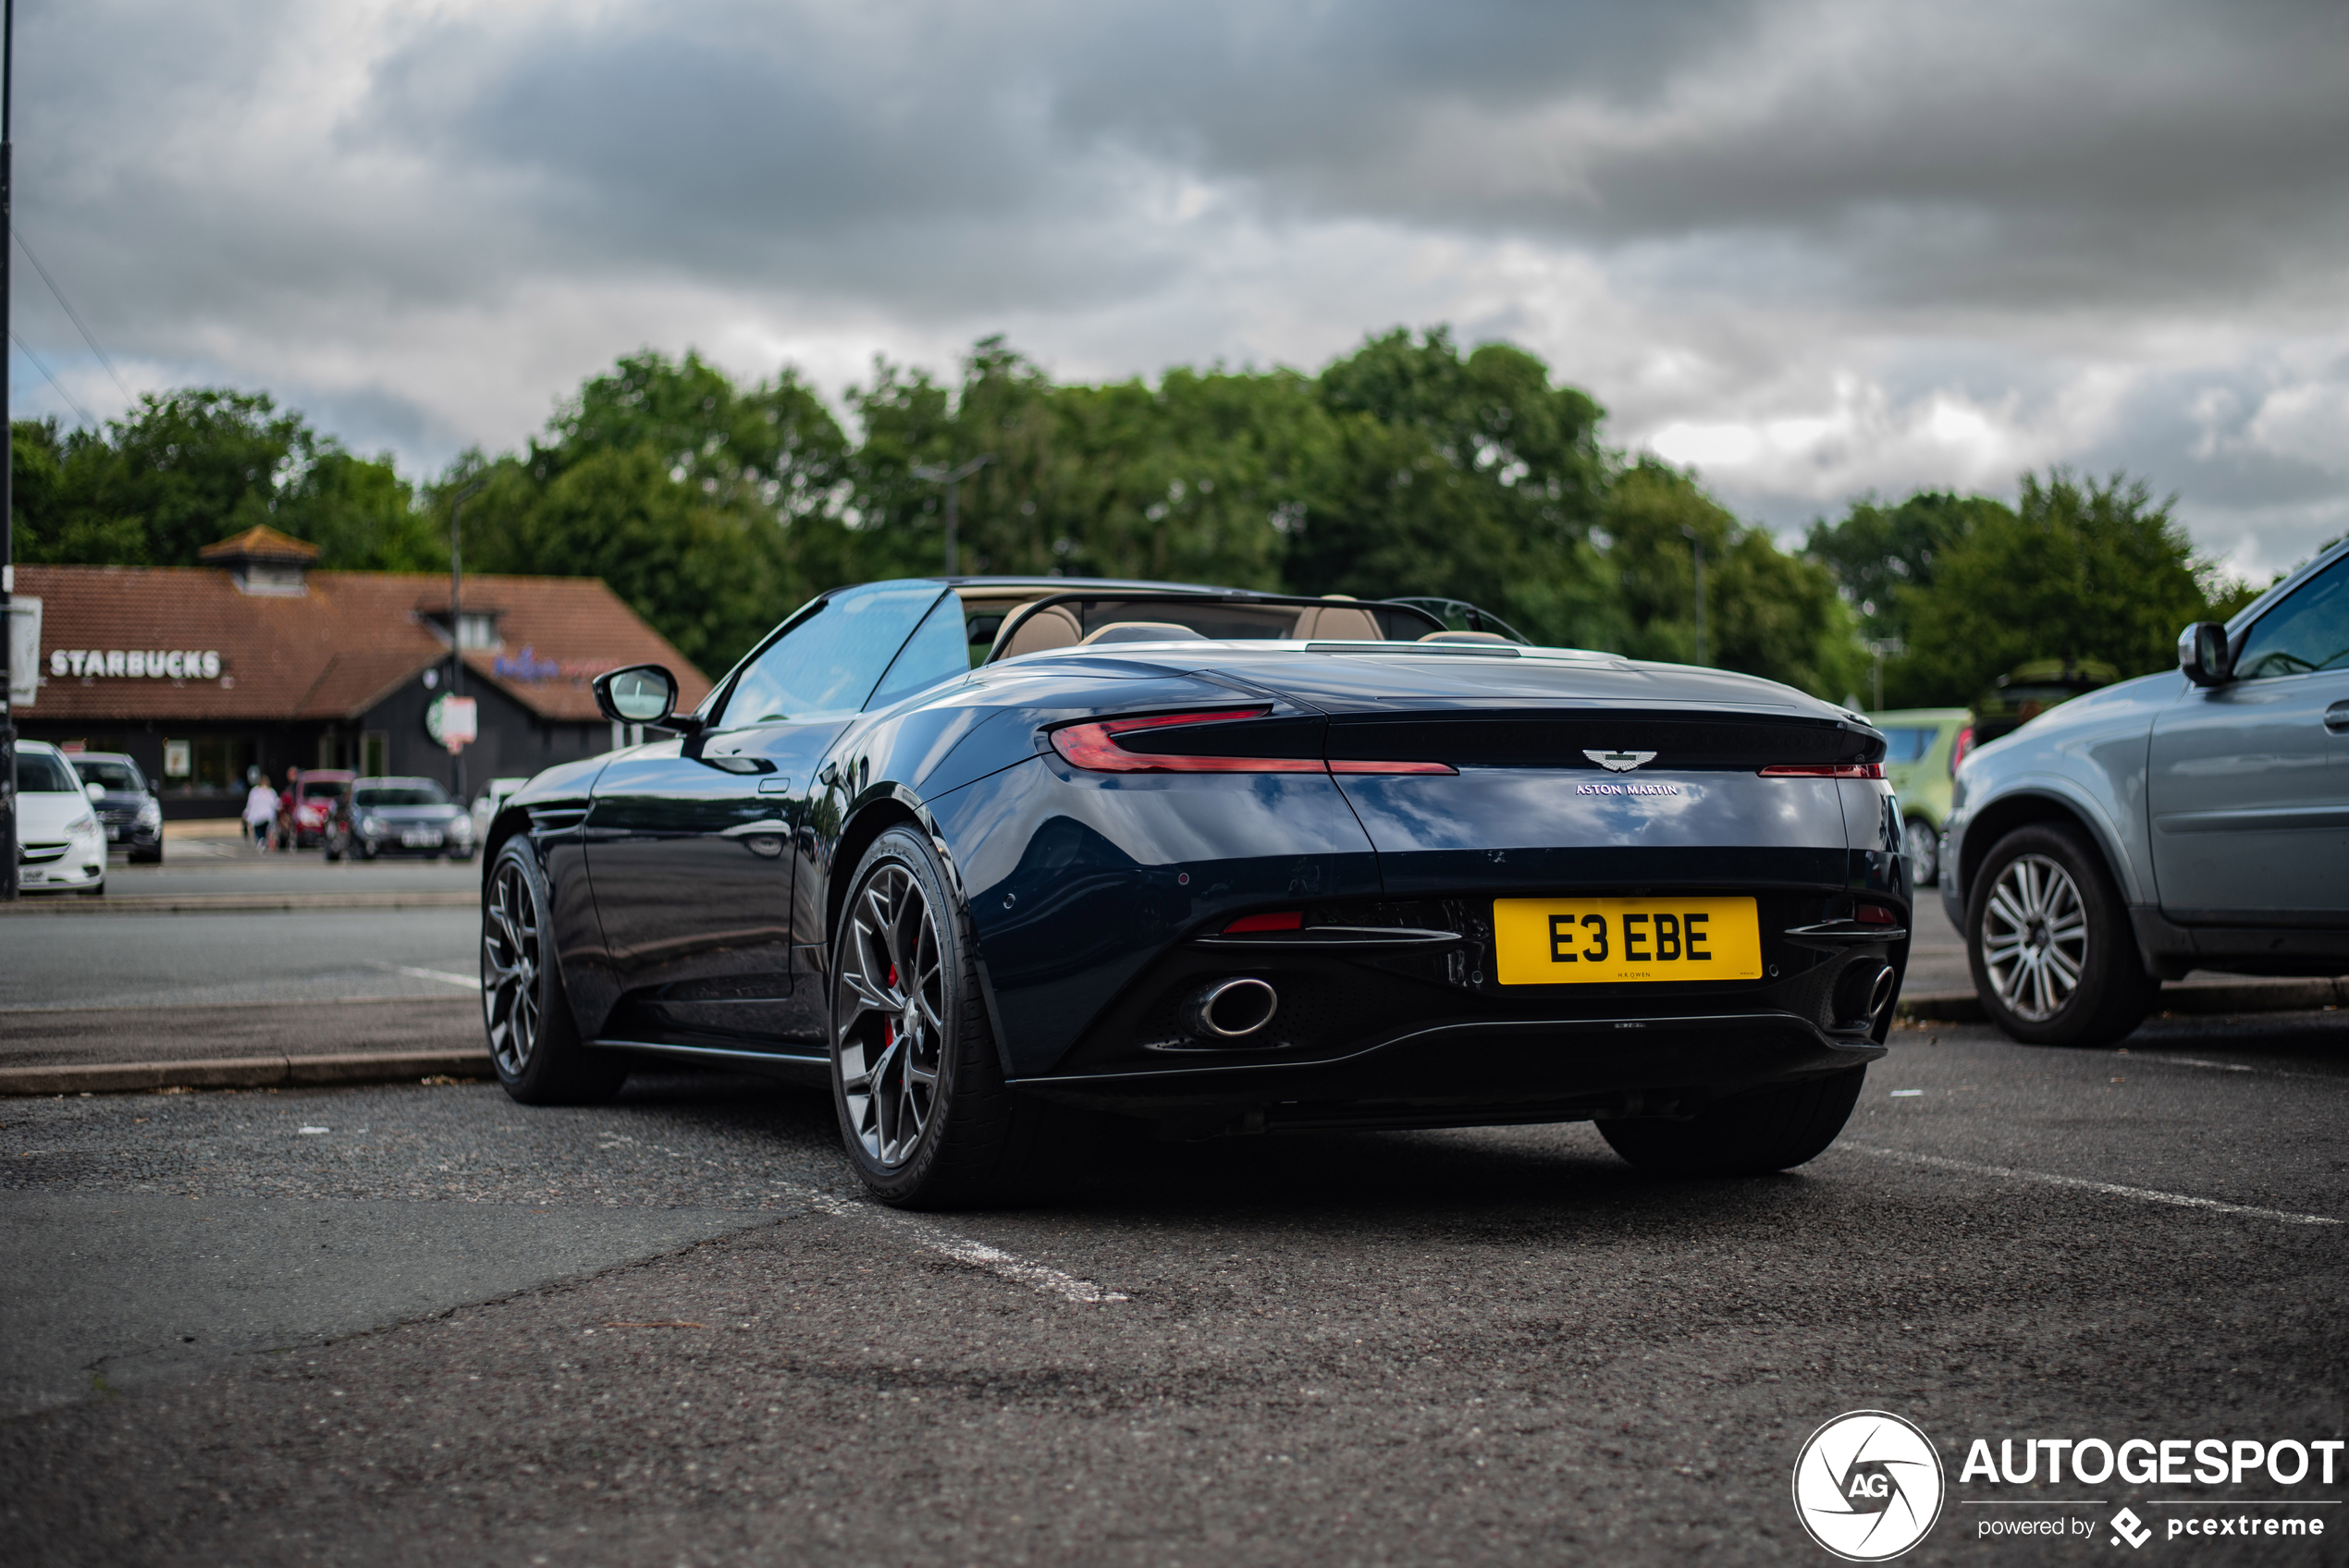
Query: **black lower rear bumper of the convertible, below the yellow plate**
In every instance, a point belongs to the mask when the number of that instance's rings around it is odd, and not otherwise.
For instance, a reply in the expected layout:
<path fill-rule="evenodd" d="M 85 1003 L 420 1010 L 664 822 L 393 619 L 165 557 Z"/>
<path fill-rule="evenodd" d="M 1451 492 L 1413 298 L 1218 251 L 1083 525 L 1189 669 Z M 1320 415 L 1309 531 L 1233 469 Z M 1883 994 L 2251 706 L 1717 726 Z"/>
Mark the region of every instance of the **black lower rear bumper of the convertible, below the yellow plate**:
<path fill-rule="evenodd" d="M 1196 1134 L 1687 1115 L 1884 1054 L 1907 934 L 1785 930 L 1820 904 L 1762 894 L 1776 918 L 1766 979 L 1708 986 L 1496 986 L 1482 901 L 1386 906 L 1416 913 L 1416 930 L 1351 927 L 1355 951 L 1193 939 L 1050 1070 L 1012 1082 Z M 1889 988 L 1877 988 L 1886 969 Z M 1245 1040 L 1214 1040 L 1200 1021 L 1196 998 L 1229 979 L 1280 998 Z"/>

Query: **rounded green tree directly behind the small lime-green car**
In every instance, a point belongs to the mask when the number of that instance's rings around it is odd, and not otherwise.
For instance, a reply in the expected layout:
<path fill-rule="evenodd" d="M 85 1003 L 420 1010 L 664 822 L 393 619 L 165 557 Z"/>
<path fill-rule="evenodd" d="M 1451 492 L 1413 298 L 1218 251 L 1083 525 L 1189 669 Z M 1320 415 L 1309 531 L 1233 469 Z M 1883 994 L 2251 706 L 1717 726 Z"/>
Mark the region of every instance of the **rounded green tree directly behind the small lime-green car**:
<path fill-rule="evenodd" d="M 2123 678 L 2175 664 L 2180 627 L 2236 589 L 2194 554 L 2173 505 L 2126 474 L 2025 474 L 2013 512 L 1980 516 L 1931 587 L 1896 589 L 1905 699 L 1973 702 L 2027 660 L 2105 660 Z"/>

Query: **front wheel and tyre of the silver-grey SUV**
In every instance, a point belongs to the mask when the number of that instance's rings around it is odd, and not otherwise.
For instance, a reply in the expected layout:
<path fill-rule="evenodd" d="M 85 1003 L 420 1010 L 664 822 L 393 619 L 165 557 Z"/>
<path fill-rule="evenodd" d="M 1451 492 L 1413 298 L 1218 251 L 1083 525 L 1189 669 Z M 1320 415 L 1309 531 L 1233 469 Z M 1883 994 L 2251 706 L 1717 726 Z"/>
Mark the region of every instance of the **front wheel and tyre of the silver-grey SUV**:
<path fill-rule="evenodd" d="M 2161 1000 L 2105 857 L 2053 822 L 1990 847 L 1966 897 L 1966 965 L 1983 1012 L 2022 1045 L 2112 1045 Z"/>

